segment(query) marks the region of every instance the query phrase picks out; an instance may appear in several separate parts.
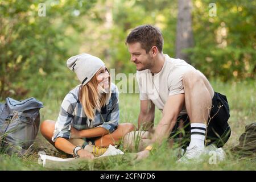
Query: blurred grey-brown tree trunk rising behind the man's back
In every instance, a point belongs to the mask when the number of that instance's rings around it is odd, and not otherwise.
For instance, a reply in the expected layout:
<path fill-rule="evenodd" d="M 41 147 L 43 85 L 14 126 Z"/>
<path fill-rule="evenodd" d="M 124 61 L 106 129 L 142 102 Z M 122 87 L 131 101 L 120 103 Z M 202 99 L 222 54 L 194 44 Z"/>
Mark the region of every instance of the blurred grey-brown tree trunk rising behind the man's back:
<path fill-rule="evenodd" d="M 178 10 L 176 30 L 176 58 L 183 59 L 187 61 L 187 63 L 190 63 L 188 53 L 184 53 L 183 50 L 189 47 L 193 47 L 191 0 L 179 0 Z"/>

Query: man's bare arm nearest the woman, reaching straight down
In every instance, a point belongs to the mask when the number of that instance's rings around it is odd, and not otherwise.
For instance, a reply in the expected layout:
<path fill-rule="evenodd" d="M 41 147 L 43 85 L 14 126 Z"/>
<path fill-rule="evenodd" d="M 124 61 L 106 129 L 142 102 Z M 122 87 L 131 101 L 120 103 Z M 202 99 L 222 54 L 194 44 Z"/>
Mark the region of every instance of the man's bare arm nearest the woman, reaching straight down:
<path fill-rule="evenodd" d="M 154 126 L 155 105 L 151 100 L 141 100 L 141 111 L 138 118 L 138 129 L 150 130 Z"/>

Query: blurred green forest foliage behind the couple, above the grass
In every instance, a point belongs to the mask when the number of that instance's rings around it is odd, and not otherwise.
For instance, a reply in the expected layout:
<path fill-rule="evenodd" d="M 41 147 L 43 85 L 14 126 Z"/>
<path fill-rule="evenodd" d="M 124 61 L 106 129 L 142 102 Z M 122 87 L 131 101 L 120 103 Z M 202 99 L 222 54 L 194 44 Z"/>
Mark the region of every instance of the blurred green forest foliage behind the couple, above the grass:
<path fill-rule="evenodd" d="M 185 53 L 212 80 L 254 80 L 256 1 L 193 0 L 191 12 L 185 11 L 188 2 L 51 0 L 43 2 L 46 16 L 39 16 L 42 1 L 1 1 L 0 100 L 63 98 L 79 84 L 66 61 L 82 52 L 100 57 L 116 74 L 135 73 L 125 39 L 141 24 L 159 27 L 163 52 L 179 58 L 178 51 Z M 183 10 L 178 3 L 185 3 Z M 216 4 L 216 16 L 210 15 L 210 3 Z M 183 16 L 191 26 L 187 47 L 176 44 Z"/>

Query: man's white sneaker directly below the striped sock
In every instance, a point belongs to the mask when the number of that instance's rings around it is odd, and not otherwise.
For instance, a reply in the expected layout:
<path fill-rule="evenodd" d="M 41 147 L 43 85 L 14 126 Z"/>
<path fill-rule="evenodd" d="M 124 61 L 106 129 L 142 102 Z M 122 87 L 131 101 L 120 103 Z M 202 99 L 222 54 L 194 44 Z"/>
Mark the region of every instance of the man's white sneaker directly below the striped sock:
<path fill-rule="evenodd" d="M 200 162 L 200 156 L 204 154 L 204 147 L 193 146 L 187 147 L 185 155 L 177 163 Z"/>

